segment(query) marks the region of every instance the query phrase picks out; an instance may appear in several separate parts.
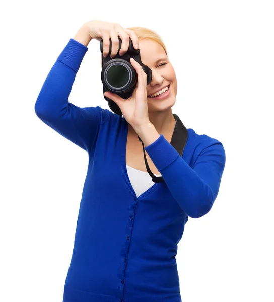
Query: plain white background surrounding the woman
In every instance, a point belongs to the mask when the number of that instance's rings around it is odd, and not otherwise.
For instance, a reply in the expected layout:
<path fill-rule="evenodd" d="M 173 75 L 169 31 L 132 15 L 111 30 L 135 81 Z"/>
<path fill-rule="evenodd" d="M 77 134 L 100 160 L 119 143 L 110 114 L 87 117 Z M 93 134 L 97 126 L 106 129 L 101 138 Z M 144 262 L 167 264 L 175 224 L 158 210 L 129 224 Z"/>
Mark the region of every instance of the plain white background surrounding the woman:
<path fill-rule="evenodd" d="M 178 244 L 183 302 L 274 301 L 272 4 L 1 5 L 1 301 L 62 301 L 88 154 L 39 120 L 34 105 L 68 40 L 92 19 L 159 33 L 177 75 L 173 113 L 226 150 L 213 208 L 189 218 Z M 88 48 L 70 102 L 108 109 L 100 42 Z"/>

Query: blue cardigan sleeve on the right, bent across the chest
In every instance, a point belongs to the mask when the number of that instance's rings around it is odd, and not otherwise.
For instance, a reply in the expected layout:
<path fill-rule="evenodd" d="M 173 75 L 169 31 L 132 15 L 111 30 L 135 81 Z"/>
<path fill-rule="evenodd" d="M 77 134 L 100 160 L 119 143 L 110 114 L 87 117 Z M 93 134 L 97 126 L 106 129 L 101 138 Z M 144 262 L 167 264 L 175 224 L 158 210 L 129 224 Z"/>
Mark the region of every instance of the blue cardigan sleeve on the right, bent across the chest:
<path fill-rule="evenodd" d="M 145 147 L 180 207 L 191 218 L 207 214 L 218 195 L 226 162 L 223 144 L 212 138 L 203 147 L 193 169 L 163 134 Z"/>

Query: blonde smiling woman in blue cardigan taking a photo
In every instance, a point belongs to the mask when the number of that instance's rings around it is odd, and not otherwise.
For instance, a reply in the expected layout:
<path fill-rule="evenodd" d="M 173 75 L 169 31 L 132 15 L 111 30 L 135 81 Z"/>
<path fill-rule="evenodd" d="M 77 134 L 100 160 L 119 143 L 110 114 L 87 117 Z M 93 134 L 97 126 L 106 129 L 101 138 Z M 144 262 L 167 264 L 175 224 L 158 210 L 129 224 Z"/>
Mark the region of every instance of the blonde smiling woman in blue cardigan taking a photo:
<path fill-rule="evenodd" d="M 103 54 L 140 49 L 132 96 L 106 92 L 122 116 L 101 107 L 68 102 L 91 39 L 103 40 Z M 160 97 L 155 97 L 160 91 Z M 167 90 L 167 91 L 166 91 Z M 35 104 L 37 116 L 89 154 L 72 260 L 63 302 L 181 301 L 175 256 L 188 216 L 208 213 L 225 166 L 221 142 L 187 129 L 181 156 L 171 145 L 176 120 L 177 81 L 160 37 L 144 28 L 125 29 L 99 20 L 85 23 L 49 72 Z M 154 96 L 154 97 L 153 97 Z M 140 138 L 140 139 L 139 139 Z M 141 142 L 142 144 L 141 144 Z M 153 183 L 144 161 L 164 181 Z"/>

